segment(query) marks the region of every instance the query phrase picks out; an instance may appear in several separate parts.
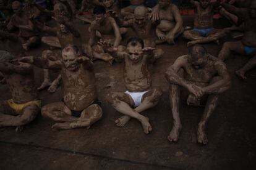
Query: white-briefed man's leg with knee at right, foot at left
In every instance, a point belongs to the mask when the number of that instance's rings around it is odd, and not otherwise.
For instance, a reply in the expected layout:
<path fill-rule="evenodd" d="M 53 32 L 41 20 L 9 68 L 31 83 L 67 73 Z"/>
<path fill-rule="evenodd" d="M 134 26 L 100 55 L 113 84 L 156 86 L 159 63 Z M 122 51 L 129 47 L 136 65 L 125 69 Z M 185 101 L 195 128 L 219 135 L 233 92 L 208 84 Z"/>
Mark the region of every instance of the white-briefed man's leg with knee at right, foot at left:
<path fill-rule="evenodd" d="M 138 113 L 141 113 L 142 111 L 148 110 L 149 108 L 155 107 L 155 105 L 158 103 L 158 100 L 160 100 L 161 95 L 163 92 L 160 88 L 153 88 L 147 93 L 145 93 L 142 97 L 142 103 L 136 107 L 134 110 Z M 115 123 L 117 126 L 124 126 L 126 123 L 128 123 L 130 120 L 130 116 L 124 115 L 120 118 L 116 119 Z"/>

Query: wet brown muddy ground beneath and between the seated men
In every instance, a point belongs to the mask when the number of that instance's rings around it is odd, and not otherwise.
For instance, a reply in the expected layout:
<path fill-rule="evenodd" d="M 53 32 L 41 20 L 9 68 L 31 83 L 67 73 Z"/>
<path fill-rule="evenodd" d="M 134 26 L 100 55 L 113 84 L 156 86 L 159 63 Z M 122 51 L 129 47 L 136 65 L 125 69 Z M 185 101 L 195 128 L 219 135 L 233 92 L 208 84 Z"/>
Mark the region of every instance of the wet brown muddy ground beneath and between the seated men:
<path fill-rule="evenodd" d="M 192 26 L 192 17 L 184 23 Z M 225 20 L 216 22 L 222 28 Z M 221 25 L 221 26 L 220 26 Z M 87 26 L 78 25 L 83 38 L 88 39 Z M 128 35 L 132 35 L 129 33 Z M 127 39 L 127 38 L 126 38 Z M 229 38 L 225 38 L 225 41 Z M 221 44 L 223 41 L 221 41 Z M 168 83 L 164 72 L 177 57 L 187 54 L 186 41 L 177 39 L 175 46 L 158 46 L 166 52 L 151 68 L 153 86 L 159 86 L 164 94 L 155 108 L 143 112 L 150 118 L 153 131 L 143 133 L 139 121 L 132 119 L 126 126 L 117 127 L 114 120 L 121 116 L 108 103 L 108 92 L 124 92 L 122 63 L 96 61 L 95 73 L 98 94 L 102 102 L 103 118 L 90 129 L 51 131 L 53 121 L 41 115 L 28 124 L 22 133 L 14 127 L 0 129 L 0 169 L 255 169 L 256 154 L 256 70 L 247 73 L 242 81 L 234 75 L 249 57 L 232 55 L 226 62 L 233 85 L 220 97 L 220 102 L 208 123 L 208 145 L 197 144 L 196 126 L 203 108 L 181 105 L 183 129 L 178 142 L 167 140 L 172 127 L 169 109 Z M 221 46 L 205 45 L 212 55 Z M 31 55 L 40 55 L 41 45 Z M 43 81 L 43 71 L 35 68 L 36 84 Z M 53 78 L 57 73 L 53 72 Z M 0 86 L 1 100 L 10 99 L 8 87 Z M 62 98 L 62 87 L 54 94 L 41 91 L 43 105 Z"/>

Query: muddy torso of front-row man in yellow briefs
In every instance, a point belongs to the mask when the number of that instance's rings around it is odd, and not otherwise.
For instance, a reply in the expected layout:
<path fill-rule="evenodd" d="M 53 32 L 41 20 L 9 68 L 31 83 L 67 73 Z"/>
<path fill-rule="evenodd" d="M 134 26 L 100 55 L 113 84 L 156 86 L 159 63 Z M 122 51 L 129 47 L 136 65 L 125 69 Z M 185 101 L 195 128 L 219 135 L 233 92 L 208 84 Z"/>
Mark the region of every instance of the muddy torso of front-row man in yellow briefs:
<path fill-rule="evenodd" d="M 4 75 L 15 103 L 27 103 L 39 99 L 35 87 L 33 70 L 27 74 L 5 74 Z"/>

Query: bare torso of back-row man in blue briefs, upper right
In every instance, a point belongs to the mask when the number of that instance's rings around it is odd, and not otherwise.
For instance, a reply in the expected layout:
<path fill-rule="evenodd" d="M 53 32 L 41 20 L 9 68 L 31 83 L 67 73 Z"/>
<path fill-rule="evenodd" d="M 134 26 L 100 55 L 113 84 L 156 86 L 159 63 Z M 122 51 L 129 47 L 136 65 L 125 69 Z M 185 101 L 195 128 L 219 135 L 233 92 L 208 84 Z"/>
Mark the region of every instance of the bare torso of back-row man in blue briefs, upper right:
<path fill-rule="evenodd" d="M 213 6 L 210 5 L 204 9 L 198 5 L 196 10 L 197 12 L 195 13 L 194 28 L 213 28 Z"/>

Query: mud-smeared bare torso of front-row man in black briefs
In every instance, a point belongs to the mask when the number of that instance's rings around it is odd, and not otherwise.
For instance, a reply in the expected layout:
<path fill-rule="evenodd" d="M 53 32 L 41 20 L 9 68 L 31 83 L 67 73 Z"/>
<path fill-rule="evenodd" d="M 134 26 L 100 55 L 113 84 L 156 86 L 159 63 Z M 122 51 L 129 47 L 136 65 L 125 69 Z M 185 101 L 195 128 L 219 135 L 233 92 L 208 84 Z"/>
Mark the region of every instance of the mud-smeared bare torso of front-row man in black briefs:
<path fill-rule="evenodd" d="M 95 75 L 91 64 L 80 65 L 78 71 L 62 68 L 64 102 L 70 110 L 81 111 L 96 100 Z"/>

